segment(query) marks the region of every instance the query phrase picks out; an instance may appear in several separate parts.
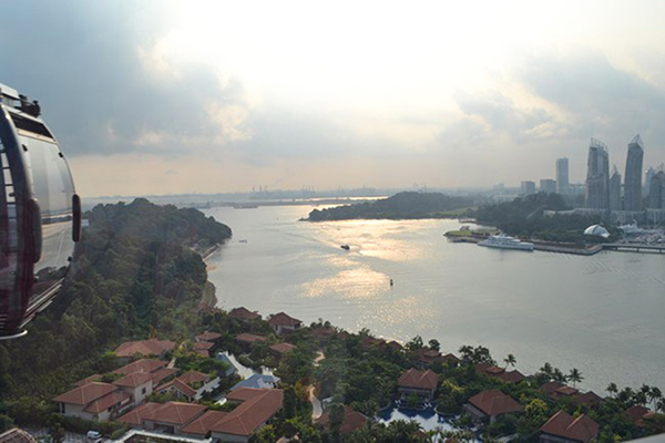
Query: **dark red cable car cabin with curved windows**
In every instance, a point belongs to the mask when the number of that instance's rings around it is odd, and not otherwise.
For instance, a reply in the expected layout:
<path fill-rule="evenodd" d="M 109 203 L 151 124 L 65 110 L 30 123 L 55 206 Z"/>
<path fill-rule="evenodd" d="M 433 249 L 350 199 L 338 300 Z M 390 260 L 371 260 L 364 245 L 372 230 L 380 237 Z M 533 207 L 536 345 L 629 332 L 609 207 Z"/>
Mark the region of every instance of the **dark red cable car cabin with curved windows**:
<path fill-rule="evenodd" d="M 0 84 L 0 339 L 60 289 L 81 231 L 81 200 L 37 101 Z"/>

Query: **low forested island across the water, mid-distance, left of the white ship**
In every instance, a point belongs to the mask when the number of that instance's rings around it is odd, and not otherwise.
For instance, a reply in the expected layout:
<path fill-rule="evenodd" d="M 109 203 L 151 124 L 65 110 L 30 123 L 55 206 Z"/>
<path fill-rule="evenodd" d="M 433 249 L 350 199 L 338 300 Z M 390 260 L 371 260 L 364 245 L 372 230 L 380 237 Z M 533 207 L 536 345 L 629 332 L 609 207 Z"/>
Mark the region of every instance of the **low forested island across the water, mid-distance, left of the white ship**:
<path fill-rule="evenodd" d="M 468 197 L 406 192 L 371 203 L 337 206 L 323 210 L 314 209 L 307 220 L 446 218 L 453 216 L 457 209 L 471 206 L 473 200 Z"/>

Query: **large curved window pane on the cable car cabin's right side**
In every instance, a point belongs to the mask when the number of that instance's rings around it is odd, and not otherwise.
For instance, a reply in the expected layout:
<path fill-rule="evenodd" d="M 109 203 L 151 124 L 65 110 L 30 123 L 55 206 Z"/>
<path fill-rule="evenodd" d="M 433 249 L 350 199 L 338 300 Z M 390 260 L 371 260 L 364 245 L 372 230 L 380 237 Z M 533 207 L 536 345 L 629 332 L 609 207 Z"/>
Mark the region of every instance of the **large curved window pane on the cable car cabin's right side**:
<path fill-rule="evenodd" d="M 19 136 L 19 141 L 28 147 L 33 196 L 39 204 L 42 220 L 41 257 L 34 265 L 38 279 L 33 296 L 37 296 L 64 277 L 72 256 L 74 186 L 57 144 L 25 136 Z"/>

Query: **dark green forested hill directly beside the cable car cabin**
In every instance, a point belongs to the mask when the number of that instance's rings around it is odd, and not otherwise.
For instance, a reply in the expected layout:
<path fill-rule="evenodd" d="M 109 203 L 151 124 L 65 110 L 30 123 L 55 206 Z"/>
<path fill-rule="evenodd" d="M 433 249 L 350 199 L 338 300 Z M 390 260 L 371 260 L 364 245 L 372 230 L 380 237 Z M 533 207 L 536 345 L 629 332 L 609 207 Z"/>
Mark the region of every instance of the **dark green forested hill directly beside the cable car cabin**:
<path fill-rule="evenodd" d="M 0 406 L 21 422 L 38 420 L 72 382 L 109 371 L 104 352 L 122 341 L 190 337 L 207 280 L 192 246 L 231 236 L 197 210 L 145 199 L 84 217 L 90 226 L 60 295 L 27 337 L 0 344 Z"/>

